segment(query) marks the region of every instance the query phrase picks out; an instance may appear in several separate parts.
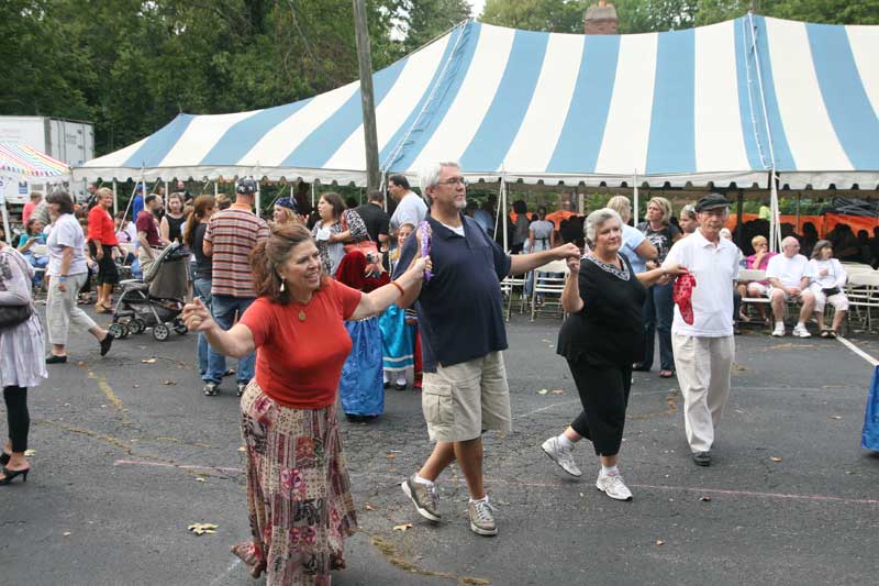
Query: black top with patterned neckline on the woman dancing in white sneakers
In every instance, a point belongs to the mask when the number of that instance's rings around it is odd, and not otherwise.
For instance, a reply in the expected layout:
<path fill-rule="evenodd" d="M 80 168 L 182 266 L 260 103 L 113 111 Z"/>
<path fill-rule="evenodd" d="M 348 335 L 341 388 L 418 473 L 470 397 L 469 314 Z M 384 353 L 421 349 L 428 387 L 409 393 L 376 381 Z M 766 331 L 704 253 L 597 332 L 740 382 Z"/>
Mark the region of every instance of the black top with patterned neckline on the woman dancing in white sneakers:
<path fill-rule="evenodd" d="M 558 332 L 558 354 L 594 366 L 624 366 L 644 354 L 643 306 L 647 289 L 635 277 L 628 259 L 625 270 L 594 257 L 580 261 L 580 299 L 583 308 L 571 313 Z M 623 280 L 621 276 L 627 279 Z"/>

